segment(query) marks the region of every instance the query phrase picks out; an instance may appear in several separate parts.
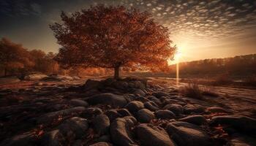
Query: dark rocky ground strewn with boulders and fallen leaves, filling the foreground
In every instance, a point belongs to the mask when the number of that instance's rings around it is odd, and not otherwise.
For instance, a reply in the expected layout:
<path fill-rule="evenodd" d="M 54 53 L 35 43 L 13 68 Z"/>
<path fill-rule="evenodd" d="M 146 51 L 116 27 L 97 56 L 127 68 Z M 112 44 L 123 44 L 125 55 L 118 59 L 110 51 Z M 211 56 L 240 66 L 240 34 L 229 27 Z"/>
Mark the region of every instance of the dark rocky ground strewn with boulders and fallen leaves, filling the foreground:
<path fill-rule="evenodd" d="M 0 86 L 0 145 L 256 145 L 253 115 L 174 86 L 131 77 L 83 82 Z"/>

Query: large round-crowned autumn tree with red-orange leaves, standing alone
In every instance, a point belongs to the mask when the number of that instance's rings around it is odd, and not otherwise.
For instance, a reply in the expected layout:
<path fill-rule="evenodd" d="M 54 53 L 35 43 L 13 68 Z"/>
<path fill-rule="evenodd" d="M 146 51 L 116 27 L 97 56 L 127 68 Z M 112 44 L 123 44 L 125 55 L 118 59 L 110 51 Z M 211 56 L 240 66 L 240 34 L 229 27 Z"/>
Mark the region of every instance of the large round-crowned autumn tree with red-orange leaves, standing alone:
<path fill-rule="evenodd" d="M 119 69 L 165 69 L 176 50 L 168 29 L 150 14 L 125 7 L 98 5 L 71 16 L 61 12 L 64 23 L 50 25 L 59 45 L 56 60 L 62 66 Z"/>

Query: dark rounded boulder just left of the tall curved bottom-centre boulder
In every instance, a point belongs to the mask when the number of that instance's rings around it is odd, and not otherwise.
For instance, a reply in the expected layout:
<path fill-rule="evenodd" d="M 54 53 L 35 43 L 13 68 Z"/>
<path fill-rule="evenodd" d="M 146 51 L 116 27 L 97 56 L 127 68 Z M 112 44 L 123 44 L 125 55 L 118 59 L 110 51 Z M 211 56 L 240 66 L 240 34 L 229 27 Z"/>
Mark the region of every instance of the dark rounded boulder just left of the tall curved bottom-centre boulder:
<path fill-rule="evenodd" d="M 94 131 L 96 131 L 98 135 L 106 134 L 110 126 L 110 120 L 107 115 L 97 115 L 92 120 L 92 125 L 94 126 Z"/>

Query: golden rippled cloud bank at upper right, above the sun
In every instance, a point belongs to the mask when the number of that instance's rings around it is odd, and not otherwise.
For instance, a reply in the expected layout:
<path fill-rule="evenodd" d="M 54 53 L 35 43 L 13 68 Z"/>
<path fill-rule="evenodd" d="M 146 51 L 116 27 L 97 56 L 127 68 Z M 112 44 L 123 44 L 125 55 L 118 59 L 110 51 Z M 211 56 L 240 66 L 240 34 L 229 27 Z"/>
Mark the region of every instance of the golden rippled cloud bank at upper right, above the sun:
<path fill-rule="evenodd" d="M 150 12 L 174 36 L 219 38 L 256 28 L 256 1 L 253 0 L 122 0 L 115 4 Z"/>

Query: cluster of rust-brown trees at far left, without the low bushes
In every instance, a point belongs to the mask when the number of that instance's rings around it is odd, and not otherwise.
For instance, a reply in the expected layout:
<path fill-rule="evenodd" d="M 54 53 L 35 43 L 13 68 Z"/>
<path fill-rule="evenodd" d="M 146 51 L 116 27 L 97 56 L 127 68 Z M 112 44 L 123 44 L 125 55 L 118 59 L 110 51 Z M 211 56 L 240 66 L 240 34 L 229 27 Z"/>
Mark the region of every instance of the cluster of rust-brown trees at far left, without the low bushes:
<path fill-rule="evenodd" d="M 54 73 L 59 67 L 53 60 L 54 53 L 42 50 L 27 50 L 23 45 L 10 39 L 0 39 L 0 76 L 14 75 L 22 72 Z"/>

